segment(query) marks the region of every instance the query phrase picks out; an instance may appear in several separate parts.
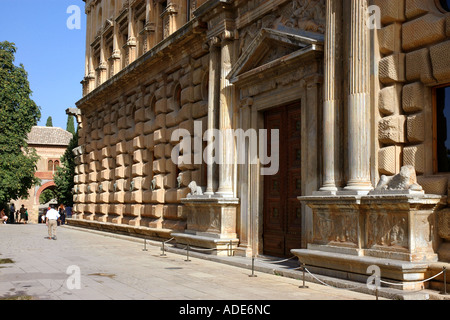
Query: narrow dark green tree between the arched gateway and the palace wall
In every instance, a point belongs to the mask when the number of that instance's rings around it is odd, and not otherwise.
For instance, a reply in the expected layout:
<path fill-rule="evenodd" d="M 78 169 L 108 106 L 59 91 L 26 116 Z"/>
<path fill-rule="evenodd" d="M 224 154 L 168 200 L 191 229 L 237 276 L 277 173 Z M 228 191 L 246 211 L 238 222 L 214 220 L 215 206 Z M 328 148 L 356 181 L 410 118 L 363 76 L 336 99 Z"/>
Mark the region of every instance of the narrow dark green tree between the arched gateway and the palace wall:
<path fill-rule="evenodd" d="M 61 157 L 61 166 L 53 175 L 55 181 L 55 194 L 58 203 L 66 207 L 73 207 L 73 187 L 75 177 L 75 155 L 72 150 L 78 147 L 78 134 L 74 134 L 67 146 L 66 152 Z"/>

